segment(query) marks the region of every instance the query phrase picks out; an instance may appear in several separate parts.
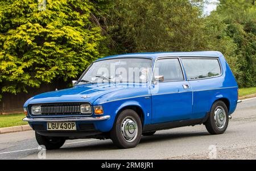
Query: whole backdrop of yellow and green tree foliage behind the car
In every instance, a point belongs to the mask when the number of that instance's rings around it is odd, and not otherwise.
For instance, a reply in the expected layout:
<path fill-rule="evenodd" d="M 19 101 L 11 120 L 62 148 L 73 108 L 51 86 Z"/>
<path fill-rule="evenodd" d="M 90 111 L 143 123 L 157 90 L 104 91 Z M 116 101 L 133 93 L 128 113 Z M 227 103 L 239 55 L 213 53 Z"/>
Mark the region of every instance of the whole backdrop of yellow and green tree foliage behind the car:
<path fill-rule="evenodd" d="M 77 77 L 116 53 L 216 50 L 239 86 L 256 85 L 254 0 L 0 0 L 0 89 Z M 1 93 L 0 93 L 1 94 Z"/>

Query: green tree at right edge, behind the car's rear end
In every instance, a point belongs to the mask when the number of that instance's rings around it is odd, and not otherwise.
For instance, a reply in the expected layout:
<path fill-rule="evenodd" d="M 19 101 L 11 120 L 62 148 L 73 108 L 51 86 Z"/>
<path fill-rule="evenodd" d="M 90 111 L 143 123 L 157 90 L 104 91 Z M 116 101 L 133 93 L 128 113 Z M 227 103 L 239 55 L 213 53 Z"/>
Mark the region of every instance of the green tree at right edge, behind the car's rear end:
<path fill-rule="evenodd" d="M 256 6 L 253 0 L 221 0 L 212 17 L 220 16 L 236 44 L 238 85 L 256 86 Z M 222 30 L 224 31 L 224 30 Z"/>

